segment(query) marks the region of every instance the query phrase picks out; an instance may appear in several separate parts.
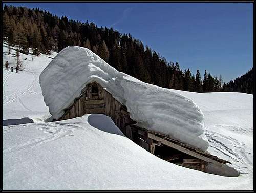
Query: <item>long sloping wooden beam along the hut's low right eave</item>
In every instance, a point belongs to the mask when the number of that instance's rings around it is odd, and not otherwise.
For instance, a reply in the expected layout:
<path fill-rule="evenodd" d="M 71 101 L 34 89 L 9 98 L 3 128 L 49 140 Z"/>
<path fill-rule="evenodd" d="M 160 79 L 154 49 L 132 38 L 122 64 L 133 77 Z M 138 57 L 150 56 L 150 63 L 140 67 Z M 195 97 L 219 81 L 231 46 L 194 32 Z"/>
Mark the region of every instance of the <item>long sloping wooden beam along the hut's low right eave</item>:
<path fill-rule="evenodd" d="M 203 160 L 203 161 L 206 161 L 206 162 L 209 162 L 209 163 L 214 163 L 214 164 L 219 165 L 219 166 L 222 165 L 222 163 L 219 163 L 219 162 L 217 162 L 217 161 L 215 161 L 215 160 L 212 160 L 212 159 L 210 159 L 210 158 L 208 158 L 208 157 L 205 157 L 205 156 L 203 156 L 203 155 L 201 155 L 201 154 L 198 154 L 198 153 L 196 153 L 196 152 L 193 152 L 193 151 L 191 151 L 191 150 L 189 150 L 189 149 L 187 149 L 187 148 L 184 148 L 184 147 L 182 147 L 182 146 L 180 146 L 180 145 L 177 145 L 177 144 L 175 144 L 175 143 L 172 143 L 172 142 L 170 142 L 170 141 L 167 141 L 167 140 L 165 140 L 165 139 L 162 139 L 162 138 L 160 138 L 160 137 L 158 137 L 158 136 L 155 136 L 155 135 L 153 135 L 153 134 L 151 134 L 151 133 L 148 133 L 148 134 L 147 134 L 147 137 L 148 137 L 148 138 L 151 138 L 151 139 L 154 139 L 154 140 L 156 140 L 156 141 L 161 141 L 161 143 L 164 144 L 164 145 L 167 145 L 167 146 L 169 146 L 169 147 L 175 148 L 175 149 L 177 149 L 178 151 L 184 152 L 184 153 L 186 153 L 186 154 L 188 154 L 188 155 L 190 155 L 190 156 L 196 157 L 196 158 L 201 159 L 201 160 Z"/>

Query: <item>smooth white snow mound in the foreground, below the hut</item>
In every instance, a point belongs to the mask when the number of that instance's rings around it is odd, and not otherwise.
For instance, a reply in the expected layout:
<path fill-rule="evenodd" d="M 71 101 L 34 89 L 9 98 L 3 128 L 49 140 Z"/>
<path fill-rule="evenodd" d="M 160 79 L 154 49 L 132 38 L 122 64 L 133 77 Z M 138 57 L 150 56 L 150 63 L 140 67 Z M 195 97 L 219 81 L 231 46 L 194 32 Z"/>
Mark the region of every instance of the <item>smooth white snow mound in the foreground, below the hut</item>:
<path fill-rule="evenodd" d="M 100 120 L 100 121 L 99 121 Z M 4 190 L 245 190 L 223 177 L 161 160 L 100 114 L 3 128 Z"/>

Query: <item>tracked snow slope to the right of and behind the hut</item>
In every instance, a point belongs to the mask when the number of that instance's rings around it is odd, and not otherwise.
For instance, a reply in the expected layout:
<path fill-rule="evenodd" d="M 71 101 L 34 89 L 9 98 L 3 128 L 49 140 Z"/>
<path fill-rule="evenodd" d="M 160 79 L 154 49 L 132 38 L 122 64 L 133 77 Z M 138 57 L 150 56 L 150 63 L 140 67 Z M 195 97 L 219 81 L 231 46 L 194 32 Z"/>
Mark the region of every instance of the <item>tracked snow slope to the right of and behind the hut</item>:
<path fill-rule="evenodd" d="M 207 151 L 232 162 L 241 174 L 253 174 L 253 95 L 175 91 L 203 111 Z"/>

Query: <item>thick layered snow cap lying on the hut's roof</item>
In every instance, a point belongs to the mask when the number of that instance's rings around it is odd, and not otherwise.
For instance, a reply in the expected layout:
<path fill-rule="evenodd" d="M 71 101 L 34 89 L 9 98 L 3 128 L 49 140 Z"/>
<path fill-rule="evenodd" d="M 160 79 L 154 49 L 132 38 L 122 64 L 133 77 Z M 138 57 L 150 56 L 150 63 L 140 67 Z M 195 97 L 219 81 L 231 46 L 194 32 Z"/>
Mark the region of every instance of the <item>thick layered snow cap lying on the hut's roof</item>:
<path fill-rule="evenodd" d="M 40 74 L 42 95 L 53 118 L 59 119 L 93 81 L 125 105 L 139 126 L 202 151 L 208 148 L 204 115 L 192 100 L 119 72 L 89 49 L 77 46 L 59 52 Z"/>

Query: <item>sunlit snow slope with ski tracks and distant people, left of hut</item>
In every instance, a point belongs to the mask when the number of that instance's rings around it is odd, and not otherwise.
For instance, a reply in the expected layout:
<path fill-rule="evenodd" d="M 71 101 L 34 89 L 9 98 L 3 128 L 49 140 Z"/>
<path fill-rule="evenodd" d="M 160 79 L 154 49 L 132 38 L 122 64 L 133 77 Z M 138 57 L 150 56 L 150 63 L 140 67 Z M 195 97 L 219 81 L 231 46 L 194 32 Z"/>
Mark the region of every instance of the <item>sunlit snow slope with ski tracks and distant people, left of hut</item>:
<path fill-rule="evenodd" d="M 11 54 L 8 54 L 8 46 L 3 44 L 3 124 L 44 122 L 51 115 L 42 97 L 38 79 L 41 71 L 57 53 L 52 52 L 50 56 L 34 56 L 33 61 L 32 55 L 20 53 L 19 58 L 25 69 L 16 73 L 16 52 L 14 47 L 11 48 Z M 5 67 L 6 61 L 9 63 L 8 71 Z M 13 72 L 11 67 L 14 67 Z"/>

